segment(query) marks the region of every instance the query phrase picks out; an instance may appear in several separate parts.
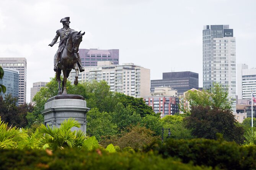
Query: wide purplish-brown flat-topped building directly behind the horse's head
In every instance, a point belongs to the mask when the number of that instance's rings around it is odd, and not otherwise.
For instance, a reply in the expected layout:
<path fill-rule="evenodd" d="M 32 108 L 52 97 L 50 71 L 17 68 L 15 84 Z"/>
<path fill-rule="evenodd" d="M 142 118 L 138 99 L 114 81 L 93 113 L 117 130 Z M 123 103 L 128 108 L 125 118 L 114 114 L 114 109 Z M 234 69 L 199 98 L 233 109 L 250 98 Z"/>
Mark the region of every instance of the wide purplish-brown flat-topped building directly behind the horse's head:
<path fill-rule="evenodd" d="M 112 61 L 119 64 L 119 50 L 79 49 L 83 67 L 97 66 L 98 61 Z"/>

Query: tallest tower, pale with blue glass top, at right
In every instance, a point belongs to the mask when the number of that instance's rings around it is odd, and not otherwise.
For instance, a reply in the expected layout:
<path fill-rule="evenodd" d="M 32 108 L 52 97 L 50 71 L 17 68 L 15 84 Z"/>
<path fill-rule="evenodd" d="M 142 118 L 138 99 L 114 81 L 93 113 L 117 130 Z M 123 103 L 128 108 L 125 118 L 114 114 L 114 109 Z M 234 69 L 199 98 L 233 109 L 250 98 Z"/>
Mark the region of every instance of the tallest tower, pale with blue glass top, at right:
<path fill-rule="evenodd" d="M 220 83 L 232 98 L 236 111 L 236 40 L 229 25 L 206 25 L 203 29 L 203 88 Z"/>

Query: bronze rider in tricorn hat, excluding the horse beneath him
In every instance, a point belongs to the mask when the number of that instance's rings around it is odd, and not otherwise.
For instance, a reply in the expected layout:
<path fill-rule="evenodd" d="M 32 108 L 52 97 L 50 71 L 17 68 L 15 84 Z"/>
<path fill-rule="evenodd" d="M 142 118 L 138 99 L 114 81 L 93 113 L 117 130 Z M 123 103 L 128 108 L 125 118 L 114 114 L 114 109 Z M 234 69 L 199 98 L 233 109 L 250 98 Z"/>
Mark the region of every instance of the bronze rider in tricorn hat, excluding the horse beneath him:
<path fill-rule="evenodd" d="M 62 50 L 63 50 L 63 48 L 65 46 L 65 43 L 67 41 L 66 40 L 67 35 L 70 32 L 74 31 L 73 29 L 71 29 L 69 27 L 69 23 L 70 23 L 69 18 L 70 17 L 65 17 L 65 18 L 62 18 L 60 20 L 60 22 L 62 22 L 62 24 L 63 24 L 63 28 L 56 31 L 55 37 L 53 38 L 52 42 L 49 44 L 49 46 L 52 47 L 57 42 L 58 38 L 60 37 L 59 48 L 58 48 L 58 50 L 57 50 L 57 52 L 56 52 L 56 54 L 54 56 L 54 71 L 55 72 L 58 69 L 57 65 L 58 65 L 59 60 L 60 60 L 60 53 L 62 52 Z M 79 53 L 77 52 L 77 53 L 75 53 L 75 55 L 77 55 L 77 58 L 78 58 L 78 67 L 79 67 L 80 72 L 85 71 L 85 69 L 82 67 L 81 58 L 80 58 Z"/>

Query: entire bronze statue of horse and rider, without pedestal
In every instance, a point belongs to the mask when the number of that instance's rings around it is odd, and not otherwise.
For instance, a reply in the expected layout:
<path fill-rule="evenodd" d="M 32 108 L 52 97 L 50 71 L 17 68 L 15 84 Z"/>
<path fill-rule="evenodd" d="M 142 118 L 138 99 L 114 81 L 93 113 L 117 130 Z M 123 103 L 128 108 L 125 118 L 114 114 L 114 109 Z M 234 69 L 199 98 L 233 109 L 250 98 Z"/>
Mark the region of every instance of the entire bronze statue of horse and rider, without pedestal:
<path fill-rule="evenodd" d="M 81 34 L 73 29 L 69 28 L 69 17 L 60 20 L 63 24 L 63 28 L 56 31 L 56 36 L 49 44 L 53 46 L 58 38 L 60 37 L 60 44 L 57 53 L 54 56 L 54 71 L 56 72 L 56 79 L 59 84 L 58 95 L 66 95 L 66 82 L 67 78 L 72 71 L 75 69 L 75 81 L 74 84 L 78 84 L 78 68 L 80 72 L 85 71 L 82 67 L 81 59 L 78 53 L 79 45 L 82 42 L 82 37 L 85 32 Z M 60 74 L 63 73 L 62 88 L 60 88 Z"/>

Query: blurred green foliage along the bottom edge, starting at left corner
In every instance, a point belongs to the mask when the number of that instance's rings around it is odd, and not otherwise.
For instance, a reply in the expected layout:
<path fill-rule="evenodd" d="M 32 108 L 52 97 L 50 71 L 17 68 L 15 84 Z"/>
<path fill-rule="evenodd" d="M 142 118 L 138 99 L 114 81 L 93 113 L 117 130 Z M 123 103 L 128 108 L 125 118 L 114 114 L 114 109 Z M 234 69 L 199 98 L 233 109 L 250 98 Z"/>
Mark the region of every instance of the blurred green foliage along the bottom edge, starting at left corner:
<path fill-rule="evenodd" d="M 78 149 L 0 150 L 0 169 L 12 170 L 210 170 L 212 168 L 183 164 L 172 158 L 144 153 L 114 152 L 100 149 L 91 152 Z"/>

